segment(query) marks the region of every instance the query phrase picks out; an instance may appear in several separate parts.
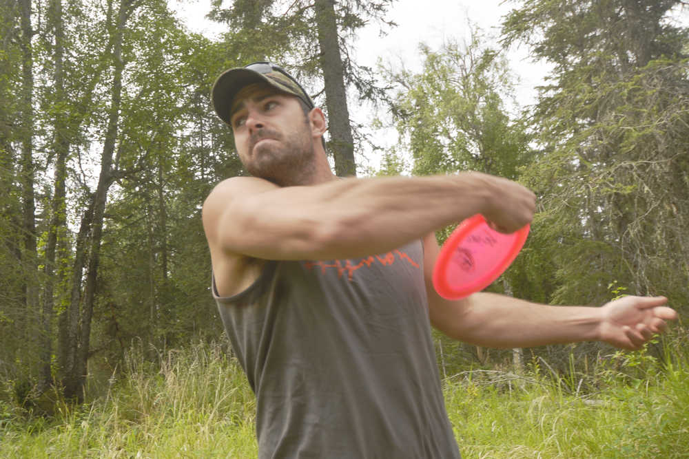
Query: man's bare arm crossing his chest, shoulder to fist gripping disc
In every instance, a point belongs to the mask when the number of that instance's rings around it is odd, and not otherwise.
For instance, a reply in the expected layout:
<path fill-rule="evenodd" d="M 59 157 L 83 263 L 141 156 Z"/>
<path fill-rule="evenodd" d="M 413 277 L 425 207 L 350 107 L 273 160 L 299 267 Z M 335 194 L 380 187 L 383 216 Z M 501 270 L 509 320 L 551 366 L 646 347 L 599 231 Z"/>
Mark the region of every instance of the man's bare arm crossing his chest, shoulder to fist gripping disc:
<path fill-rule="evenodd" d="M 212 251 L 258 259 L 342 259 L 385 253 L 482 213 L 505 232 L 531 222 L 535 195 L 482 173 L 347 178 L 280 188 L 227 179 L 203 206 Z"/>

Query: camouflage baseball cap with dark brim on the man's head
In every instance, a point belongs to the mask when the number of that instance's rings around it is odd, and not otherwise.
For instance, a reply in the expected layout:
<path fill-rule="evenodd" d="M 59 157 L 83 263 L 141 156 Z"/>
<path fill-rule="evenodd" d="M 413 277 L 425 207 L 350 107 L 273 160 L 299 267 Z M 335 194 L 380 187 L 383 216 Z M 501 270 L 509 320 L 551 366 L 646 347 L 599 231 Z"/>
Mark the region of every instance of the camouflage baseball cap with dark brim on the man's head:
<path fill-rule="evenodd" d="M 313 100 L 304 88 L 285 70 L 269 62 L 254 62 L 246 67 L 225 70 L 213 84 L 211 103 L 220 119 L 230 125 L 230 109 L 232 109 L 234 96 L 243 87 L 262 81 L 282 92 L 300 98 L 309 109 L 314 107 Z"/>

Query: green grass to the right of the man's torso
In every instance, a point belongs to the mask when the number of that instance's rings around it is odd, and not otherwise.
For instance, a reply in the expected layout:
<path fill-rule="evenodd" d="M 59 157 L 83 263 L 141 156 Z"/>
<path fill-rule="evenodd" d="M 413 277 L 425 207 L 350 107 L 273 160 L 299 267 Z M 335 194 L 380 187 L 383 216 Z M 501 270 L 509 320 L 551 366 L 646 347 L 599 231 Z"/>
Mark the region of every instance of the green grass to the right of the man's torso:
<path fill-rule="evenodd" d="M 689 359 L 617 352 L 590 374 L 472 371 L 445 380 L 464 458 L 689 458 Z"/>

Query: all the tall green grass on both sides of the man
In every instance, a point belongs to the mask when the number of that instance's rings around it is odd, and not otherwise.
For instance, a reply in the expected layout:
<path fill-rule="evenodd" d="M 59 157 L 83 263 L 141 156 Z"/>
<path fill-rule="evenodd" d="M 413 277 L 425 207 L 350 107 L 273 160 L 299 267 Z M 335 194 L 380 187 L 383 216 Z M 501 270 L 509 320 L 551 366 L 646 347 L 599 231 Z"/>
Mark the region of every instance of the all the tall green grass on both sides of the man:
<path fill-rule="evenodd" d="M 677 341 L 679 343 L 679 341 Z M 464 458 L 689 458 L 686 346 L 599 359 L 559 375 L 460 372 L 444 394 Z M 255 458 L 254 395 L 219 345 L 133 348 L 105 396 L 54 419 L 0 403 L 3 458 Z"/>

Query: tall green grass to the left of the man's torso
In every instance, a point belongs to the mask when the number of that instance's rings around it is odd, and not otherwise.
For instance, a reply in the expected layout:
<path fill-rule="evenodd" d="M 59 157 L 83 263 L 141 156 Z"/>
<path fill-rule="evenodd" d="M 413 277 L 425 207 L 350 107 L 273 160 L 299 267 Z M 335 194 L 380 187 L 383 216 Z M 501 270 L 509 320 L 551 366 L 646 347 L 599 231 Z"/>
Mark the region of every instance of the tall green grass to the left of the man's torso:
<path fill-rule="evenodd" d="M 125 358 L 123 378 L 80 407 L 62 405 L 52 423 L 6 423 L 3 458 L 253 458 L 254 394 L 218 345 Z"/>

